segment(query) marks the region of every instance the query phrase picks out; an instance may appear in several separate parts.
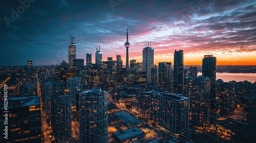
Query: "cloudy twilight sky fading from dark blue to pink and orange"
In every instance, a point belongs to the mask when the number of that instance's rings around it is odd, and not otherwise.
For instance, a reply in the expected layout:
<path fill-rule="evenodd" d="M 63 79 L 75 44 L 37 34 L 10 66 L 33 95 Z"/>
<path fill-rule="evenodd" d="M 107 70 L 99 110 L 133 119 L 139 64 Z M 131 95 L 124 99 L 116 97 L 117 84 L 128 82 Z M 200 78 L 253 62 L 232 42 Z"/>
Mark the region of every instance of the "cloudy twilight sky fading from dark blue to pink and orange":
<path fill-rule="evenodd" d="M 217 57 L 217 65 L 256 65 L 256 1 L 21 2 L 26 3 L 3 1 L 0 6 L 0 65 L 68 62 L 73 35 L 76 58 L 84 63 L 86 53 L 92 53 L 95 62 L 100 45 L 103 60 L 121 55 L 125 64 L 126 21 L 129 60 L 142 62 L 147 40 L 152 41 L 157 65 L 173 64 L 175 50 L 184 51 L 185 65 L 201 65 L 206 54 Z"/>

